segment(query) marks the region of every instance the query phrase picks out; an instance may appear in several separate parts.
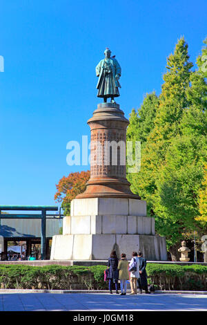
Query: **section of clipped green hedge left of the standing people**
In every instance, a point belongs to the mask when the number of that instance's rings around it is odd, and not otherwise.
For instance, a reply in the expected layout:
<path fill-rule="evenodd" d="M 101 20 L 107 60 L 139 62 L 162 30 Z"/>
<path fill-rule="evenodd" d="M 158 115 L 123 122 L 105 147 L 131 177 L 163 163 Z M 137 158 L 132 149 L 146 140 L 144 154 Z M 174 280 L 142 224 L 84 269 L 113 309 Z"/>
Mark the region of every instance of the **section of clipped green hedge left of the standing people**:
<path fill-rule="evenodd" d="M 19 289 L 101 289 L 106 266 L 0 266 L 0 288 Z"/>

